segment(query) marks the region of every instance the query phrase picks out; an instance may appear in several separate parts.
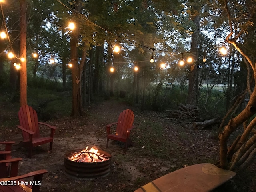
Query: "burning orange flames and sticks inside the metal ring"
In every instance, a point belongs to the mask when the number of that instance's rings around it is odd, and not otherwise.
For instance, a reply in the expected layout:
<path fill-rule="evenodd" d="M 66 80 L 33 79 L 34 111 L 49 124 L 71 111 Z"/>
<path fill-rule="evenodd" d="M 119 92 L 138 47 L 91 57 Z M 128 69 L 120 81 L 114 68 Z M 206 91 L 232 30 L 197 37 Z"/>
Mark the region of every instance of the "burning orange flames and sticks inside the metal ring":
<path fill-rule="evenodd" d="M 68 160 L 86 163 L 102 162 L 108 160 L 109 157 L 106 157 L 103 154 L 98 153 L 98 149 L 92 147 L 90 150 L 88 150 L 88 148 L 89 147 L 87 146 L 80 152 L 74 153 L 73 156 L 68 157 Z"/>

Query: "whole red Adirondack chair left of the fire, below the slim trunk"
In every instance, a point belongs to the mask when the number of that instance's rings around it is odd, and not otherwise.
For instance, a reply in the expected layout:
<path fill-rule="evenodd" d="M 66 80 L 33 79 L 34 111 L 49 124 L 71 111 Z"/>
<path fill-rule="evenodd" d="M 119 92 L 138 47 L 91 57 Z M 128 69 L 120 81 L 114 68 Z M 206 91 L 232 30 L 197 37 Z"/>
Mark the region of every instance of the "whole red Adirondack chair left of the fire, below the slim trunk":
<path fill-rule="evenodd" d="M 18 115 L 20 125 L 17 125 L 17 127 L 22 130 L 23 142 L 28 145 L 28 157 L 32 157 L 32 148 L 41 144 L 50 143 L 50 150 L 52 150 L 53 137 L 56 127 L 38 122 L 36 110 L 28 105 L 20 107 Z M 49 137 L 40 137 L 39 124 L 48 126 L 51 129 Z"/>

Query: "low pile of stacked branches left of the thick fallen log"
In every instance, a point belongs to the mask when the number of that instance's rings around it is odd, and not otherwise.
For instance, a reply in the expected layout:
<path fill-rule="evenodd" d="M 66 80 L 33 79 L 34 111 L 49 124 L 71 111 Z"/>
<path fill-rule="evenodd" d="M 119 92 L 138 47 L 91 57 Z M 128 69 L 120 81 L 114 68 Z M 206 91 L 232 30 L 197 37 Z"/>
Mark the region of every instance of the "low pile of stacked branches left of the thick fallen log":
<path fill-rule="evenodd" d="M 182 117 L 197 117 L 199 115 L 199 109 L 198 106 L 194 105 L 183 105 L 178 104 L 179 108 L 178 110 L 168 110 L 169 112 L 168 117 L 169 118 L 182 118 Z"/>

